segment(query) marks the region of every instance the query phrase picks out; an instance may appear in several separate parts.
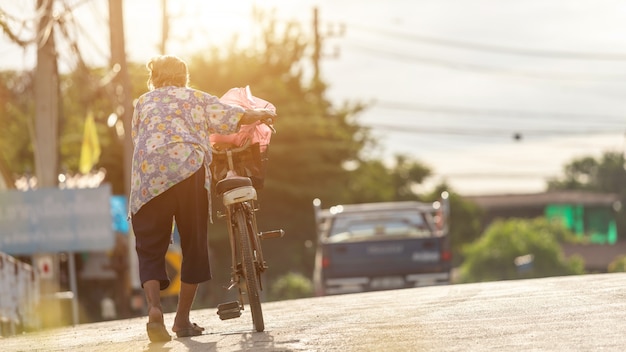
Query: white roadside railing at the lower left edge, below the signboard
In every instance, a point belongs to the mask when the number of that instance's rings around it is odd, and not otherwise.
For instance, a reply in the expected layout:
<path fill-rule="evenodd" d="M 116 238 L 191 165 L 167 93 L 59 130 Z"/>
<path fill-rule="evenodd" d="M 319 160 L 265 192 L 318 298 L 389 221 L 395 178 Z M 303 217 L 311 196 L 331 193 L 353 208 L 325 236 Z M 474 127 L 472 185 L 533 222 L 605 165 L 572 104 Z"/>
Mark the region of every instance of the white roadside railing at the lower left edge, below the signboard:
<path fill-rule="evenodd" d="M 39 299 L 35 268 L 0 252 L 0 336 L 38 330 Z"/>

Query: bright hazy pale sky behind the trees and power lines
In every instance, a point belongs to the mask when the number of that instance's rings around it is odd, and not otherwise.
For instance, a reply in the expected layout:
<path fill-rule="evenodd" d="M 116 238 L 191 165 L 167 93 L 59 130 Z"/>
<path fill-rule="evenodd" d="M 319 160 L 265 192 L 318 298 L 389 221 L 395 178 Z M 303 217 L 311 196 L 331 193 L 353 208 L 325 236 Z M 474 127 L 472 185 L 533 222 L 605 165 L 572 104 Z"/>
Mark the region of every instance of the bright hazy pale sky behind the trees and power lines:
<path fill-rule="evenodd" d="M 106 64 L 107 1 L 65 2 L 84 57 Z M 0 9 L 17 25 L 34 3 Z M 625 148 L 626 0 L 170 0 L 168 51 L 185 58 L 235 33 L 245 44 L 253 4 L 307 35 L 318 9 L 329 97 L 367 103 L 357 119 L 381 140 L 369 156 L 427 165 L 424 191 L 445 181 L 463 195 L 541 192 L 574 158 Z M 145 62 L 158 53 L 161 0 L 124 11 L 128 57 Z M 0 68 L 32 68 L 33 53 L 0 36 Z"/>

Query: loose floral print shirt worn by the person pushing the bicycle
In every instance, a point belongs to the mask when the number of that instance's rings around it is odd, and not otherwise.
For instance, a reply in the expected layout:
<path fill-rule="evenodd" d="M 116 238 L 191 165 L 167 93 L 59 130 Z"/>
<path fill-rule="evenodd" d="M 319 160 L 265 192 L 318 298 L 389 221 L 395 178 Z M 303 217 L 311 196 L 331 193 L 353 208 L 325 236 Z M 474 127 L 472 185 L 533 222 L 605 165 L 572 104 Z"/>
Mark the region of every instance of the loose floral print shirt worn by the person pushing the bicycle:
<path fill-rule="evenodd" d="M 162 87 L 140 96 L 132 120 L 129 216 L 202 166 L 210 190 L 209 134 L 237 132 L 243 114 L 241 107 L 187 87 Z"/>

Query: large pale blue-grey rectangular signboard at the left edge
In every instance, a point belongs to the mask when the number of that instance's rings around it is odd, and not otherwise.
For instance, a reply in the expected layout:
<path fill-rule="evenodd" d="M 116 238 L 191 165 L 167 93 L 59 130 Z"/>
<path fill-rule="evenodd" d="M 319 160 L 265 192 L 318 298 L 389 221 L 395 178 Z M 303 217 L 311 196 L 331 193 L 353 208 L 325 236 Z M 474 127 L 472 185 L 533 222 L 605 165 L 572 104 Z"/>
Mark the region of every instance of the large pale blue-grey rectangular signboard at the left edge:
<path fill-rule="evenodd" d="M 103 251 L 114 245 L 111 187 L 0 192 L 0 252 Z"/>

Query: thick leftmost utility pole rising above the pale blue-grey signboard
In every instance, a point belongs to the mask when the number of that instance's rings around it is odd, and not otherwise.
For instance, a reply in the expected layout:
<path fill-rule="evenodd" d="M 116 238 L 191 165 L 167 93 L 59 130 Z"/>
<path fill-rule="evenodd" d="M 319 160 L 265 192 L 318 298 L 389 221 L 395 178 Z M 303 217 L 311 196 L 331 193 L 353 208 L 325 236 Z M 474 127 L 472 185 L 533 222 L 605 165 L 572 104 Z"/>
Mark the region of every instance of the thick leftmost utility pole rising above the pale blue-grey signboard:
<path fill-rule="evenodd" d="M 59 75 L 54 44 L 53 1 L 37 0 L 43 13 L 37 29 L 35 69 L 35 175 L 39 188 L 56 187 L 58 171 Z M 45 7 L 44 7 L 45 6 Z"/>

